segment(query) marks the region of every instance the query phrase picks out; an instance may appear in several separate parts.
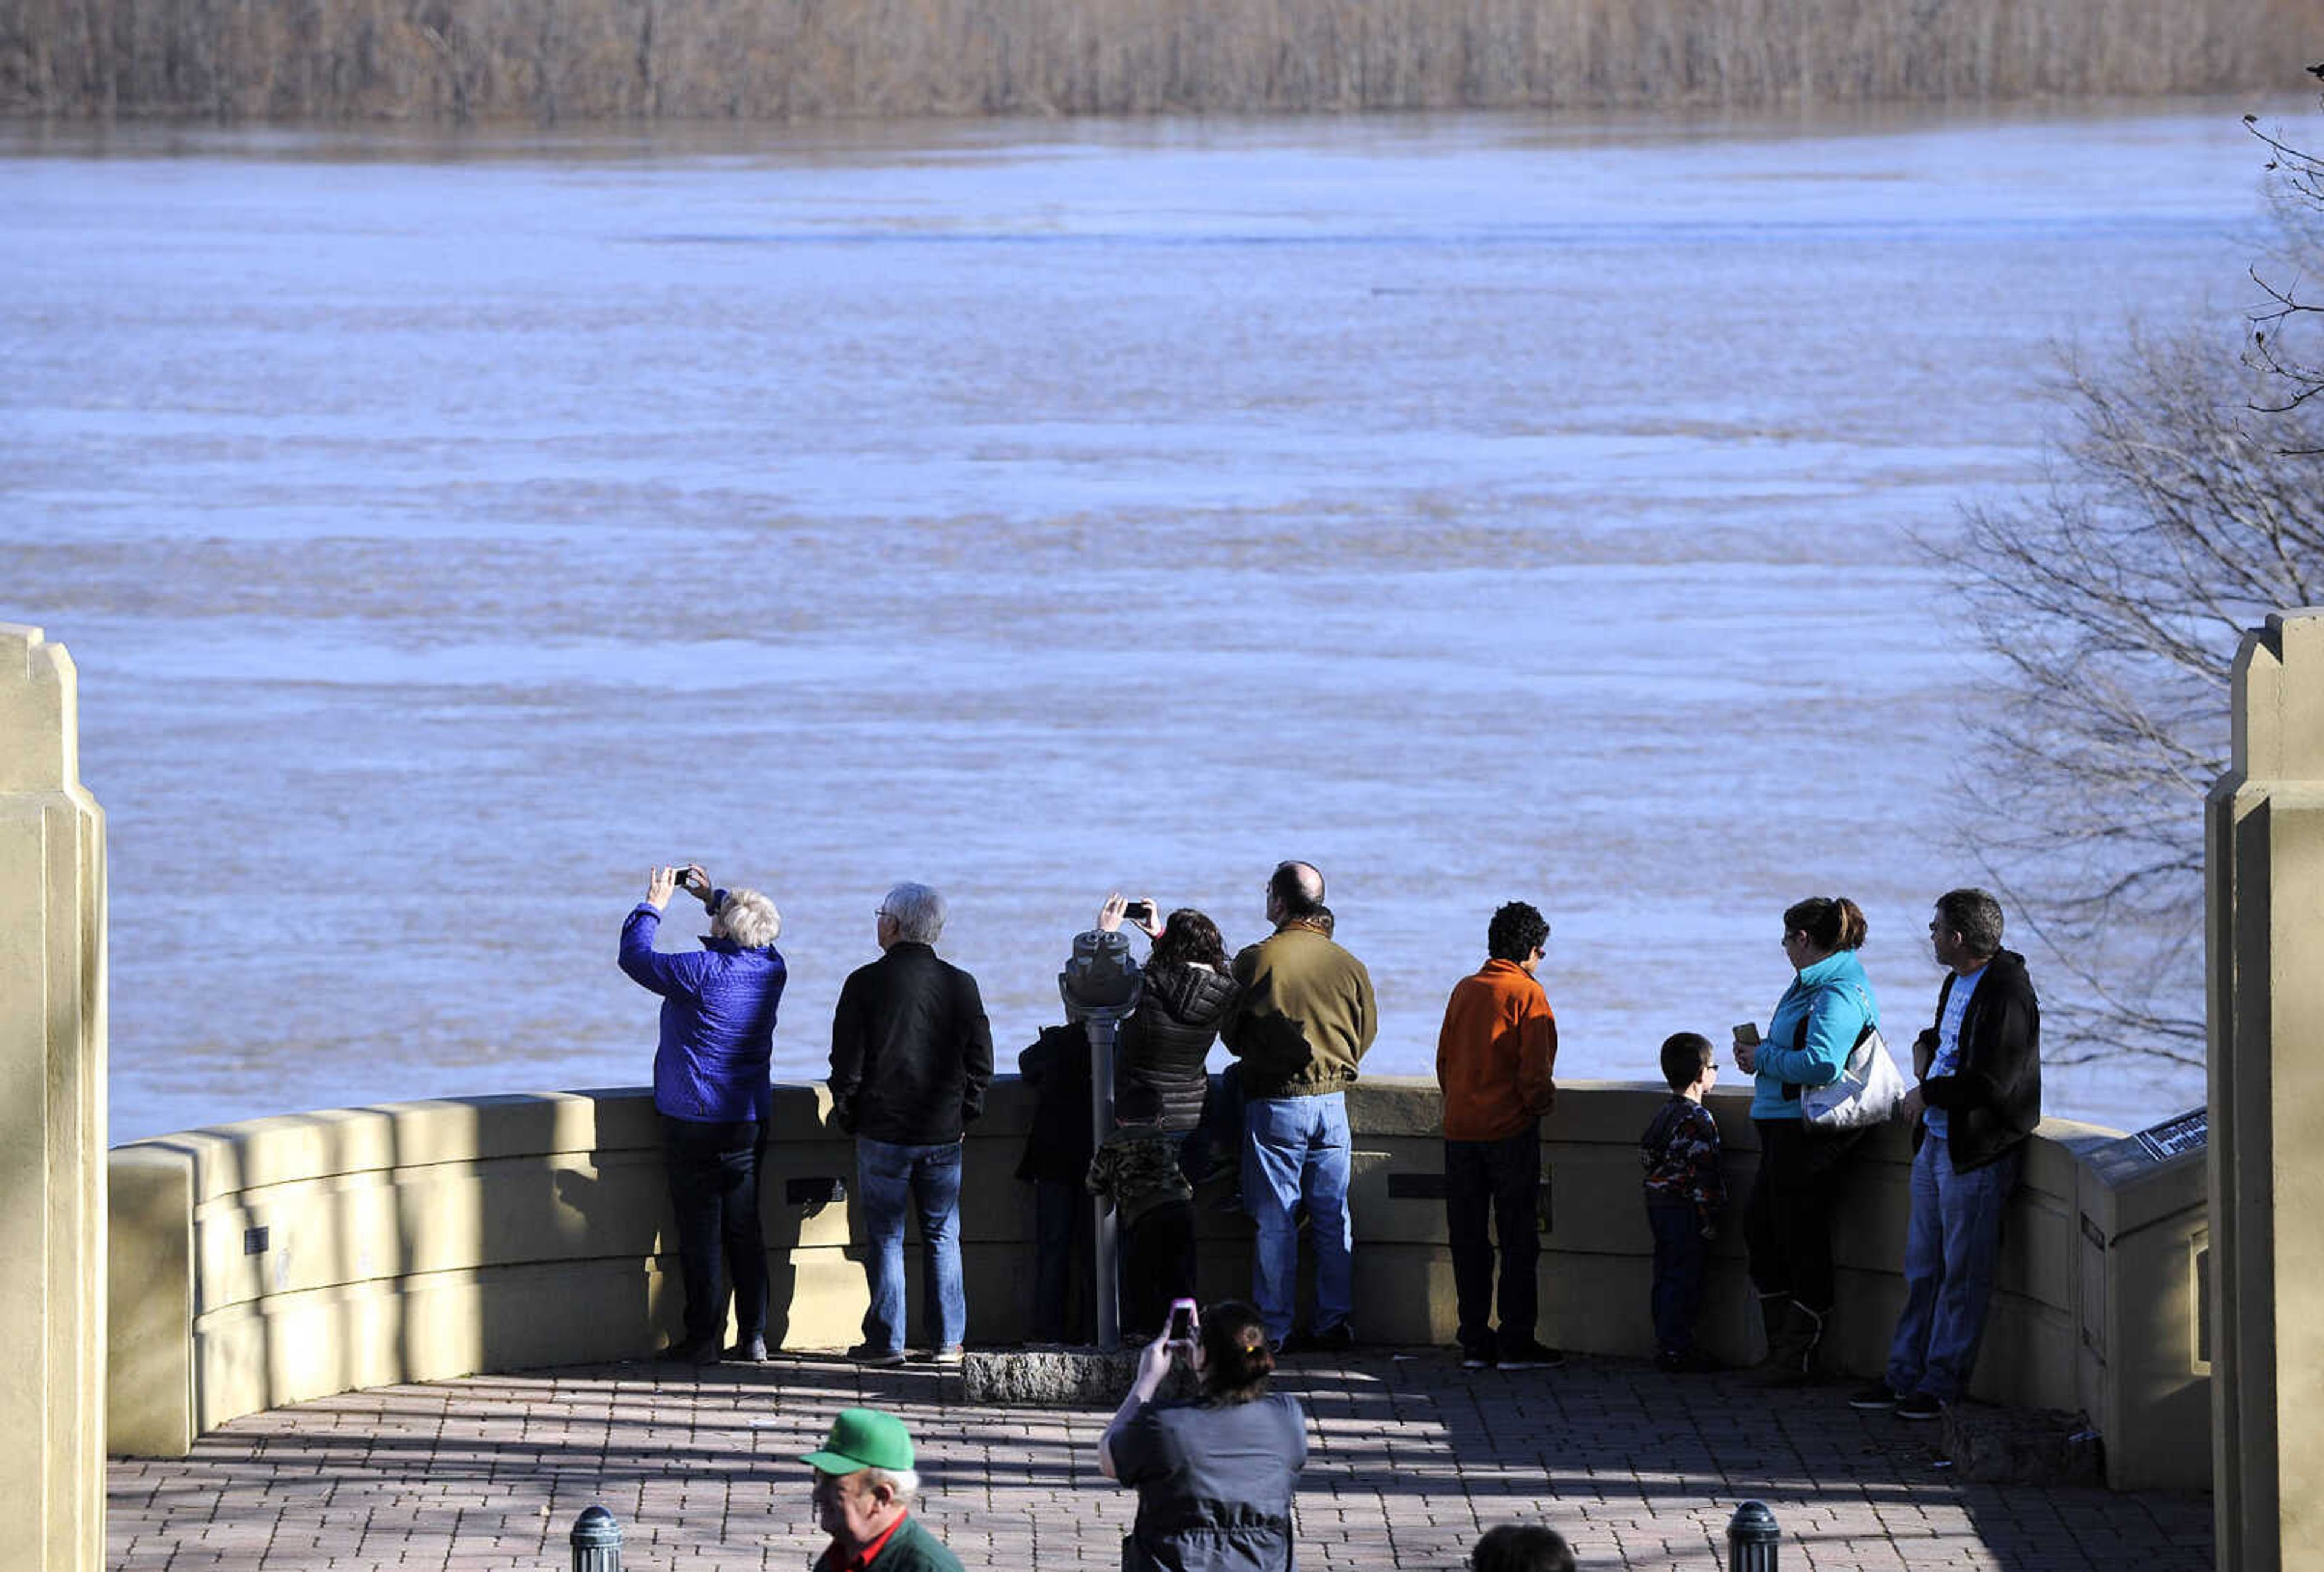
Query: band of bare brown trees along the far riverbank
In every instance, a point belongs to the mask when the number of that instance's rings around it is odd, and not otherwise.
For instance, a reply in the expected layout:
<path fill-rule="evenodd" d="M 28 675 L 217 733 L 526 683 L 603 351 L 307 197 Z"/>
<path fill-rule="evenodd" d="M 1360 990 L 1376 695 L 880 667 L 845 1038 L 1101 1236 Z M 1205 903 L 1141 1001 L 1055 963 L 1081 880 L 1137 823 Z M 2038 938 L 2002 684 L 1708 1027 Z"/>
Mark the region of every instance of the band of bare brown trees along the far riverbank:
<path fill-rule="evenodd" d="M 0 116 L 1755 107 L 2280 84 L 2303 0 L 0 0 Z"/>

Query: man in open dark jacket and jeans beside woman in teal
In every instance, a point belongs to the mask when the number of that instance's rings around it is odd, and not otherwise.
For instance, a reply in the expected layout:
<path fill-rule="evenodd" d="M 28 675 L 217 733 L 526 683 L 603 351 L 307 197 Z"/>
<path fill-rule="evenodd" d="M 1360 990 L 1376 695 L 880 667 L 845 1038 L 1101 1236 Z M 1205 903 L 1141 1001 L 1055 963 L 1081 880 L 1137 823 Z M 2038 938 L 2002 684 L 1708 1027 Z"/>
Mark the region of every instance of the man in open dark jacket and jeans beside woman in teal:
<path fill-rule="evenodd" d="M 1850 1402 L 1936 1419 L 1968 1386 L 1994 1291 L 2001 1207 L 2040 1123 L 2040 1002 L 2024 956 L 2001 949 L 2001 902 L 1985 891 L 1936 898 L 1929 944 L 1945 967 L 1936 1026 L 1913 1044 L 1920 1086 L 1903 1112 L 1922 1123 L 1906 1228 L 1906 1305 L 1887 1379 Z"/>

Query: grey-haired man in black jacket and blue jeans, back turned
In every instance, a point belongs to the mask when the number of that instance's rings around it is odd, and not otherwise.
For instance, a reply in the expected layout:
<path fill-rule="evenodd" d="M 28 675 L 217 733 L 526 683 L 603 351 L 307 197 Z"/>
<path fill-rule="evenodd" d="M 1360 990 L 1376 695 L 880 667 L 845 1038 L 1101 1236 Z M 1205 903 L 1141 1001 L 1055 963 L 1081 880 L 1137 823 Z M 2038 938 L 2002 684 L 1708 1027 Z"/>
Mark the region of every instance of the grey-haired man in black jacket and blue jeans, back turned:
<path fill-rule="evenodd" d="M 878 905 L 881 958 L 832 1012 L 832 1114 L 855 1137 L 855 1195 L 869 1230 L 865 1365 L 904 1363 L 904 1207 L 920 1216 L 920 1281 L 939 1365 L 960 1363 L 969 1300 L 960 1274 L 960 1135 L 985 1112 L 992 1028 L 976 979 L 937 958 L 944 895 L 899 884 Z"/>

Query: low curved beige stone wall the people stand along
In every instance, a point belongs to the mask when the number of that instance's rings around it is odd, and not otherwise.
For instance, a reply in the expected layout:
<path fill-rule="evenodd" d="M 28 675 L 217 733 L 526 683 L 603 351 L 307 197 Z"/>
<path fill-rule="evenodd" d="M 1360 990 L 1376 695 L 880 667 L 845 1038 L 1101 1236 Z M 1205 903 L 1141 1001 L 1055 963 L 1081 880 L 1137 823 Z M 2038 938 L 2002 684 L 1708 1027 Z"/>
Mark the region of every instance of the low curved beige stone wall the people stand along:
<path fill-rule="evenodd" d="M 1645 1358 L 1650 1239 L 1636 1137 L 1659 1088 L 1571 1084 L 1545 1123 L 1545 1342 Z M 1748 1098 L 1713 1095 L 1736 1198 L 1757 1160 Z M 1371 1079 L 1355 1126 L 1355 1323 L 1367 1342 L 1450 1344 L 1452 1263 L 1432 1081 Z M 1025 1335 L 1032 1186 L 1013 1177 L 1032 1095 L 995 1086 L 967 1142 L 962 1253 L 971 1344 Z M 820 1086 L 779 1086 L 765 1167 L 769 1342 L 839 1349 L 865 1312 L 853 1142 Z M 2201 1484 L 2196 1367 L 2201 1156 L 2117 1163 L 2108 1130 L 2050 1121 L 2003 1239 L 1975 1395 L 2099 1419 L 2119 1486 Z M 1901 1128 L 1864 1149 L 1838 1219 L 1836 1363 L 1878 1374 L 1903 1284 Z M 679 1330 L 658 1121 L 644 1091 L 407 1102 L 288 1114 L 112 1156 L 109 1449 L 179 1456 L 237 1414 L 356 1386 L 644 1358 Z M 1248 1293 L 1250 1226 L 1202 1214 L 1206 1298 Z M 2150 1256 L 2131 1246 L 2145 1242 Z M 916 1242 L 913 1242 L 916 1246 Z M 1706 1339 L 1757 1356 L 1741 1228 L 1713 1258 Z M 916 1284 L 918 1274 L 909 1274 Z M 918 1330 L 918 1314 L 913 1330 Z M 2147 1374 L 2136 1374 L 2147 1372 Z M 2136 1374 L 2136 1379 L 2131 1379 Z"/>

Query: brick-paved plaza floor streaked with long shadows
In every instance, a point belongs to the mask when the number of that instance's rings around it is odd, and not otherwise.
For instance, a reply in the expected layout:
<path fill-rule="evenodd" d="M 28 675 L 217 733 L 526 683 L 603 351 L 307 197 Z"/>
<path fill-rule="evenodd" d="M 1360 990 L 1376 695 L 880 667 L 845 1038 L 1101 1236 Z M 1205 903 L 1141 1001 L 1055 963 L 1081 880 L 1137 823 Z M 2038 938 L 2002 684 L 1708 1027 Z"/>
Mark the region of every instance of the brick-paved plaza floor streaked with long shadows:
<path fill-rule="evenodd" d="M 1771 1502 L 1785 1567 L 2210 1567 L 2208 1495 L 1989 1486 L 1931 1428 L 1845 1386 L 1755 1393 L 1627 1360 L 1466 1374 L 1443 1351 L 1294 1363 L 1315 1421 L 1308 1567 L 1452 1570 L 1478 1530 L 1543 1521 L 1585 1567 L 1720 1567 L 1738 1500 Z M 1092 1460 L 1104 1414 L 969 1409 L 932 1367 L 837 1358 L 590 1365 L 346 1393 L 239 1419 L 177 1463 L 114 1460 L 107 1563 L 548 1570 L 593 1502 L 627 1572 L 804 1567 L 820 1535 L 792 1458 L 848 1405 L 899 1409 L 925 1514 L 974 1567 L 1120 1565 L 1132 1498 Z"/>

